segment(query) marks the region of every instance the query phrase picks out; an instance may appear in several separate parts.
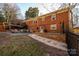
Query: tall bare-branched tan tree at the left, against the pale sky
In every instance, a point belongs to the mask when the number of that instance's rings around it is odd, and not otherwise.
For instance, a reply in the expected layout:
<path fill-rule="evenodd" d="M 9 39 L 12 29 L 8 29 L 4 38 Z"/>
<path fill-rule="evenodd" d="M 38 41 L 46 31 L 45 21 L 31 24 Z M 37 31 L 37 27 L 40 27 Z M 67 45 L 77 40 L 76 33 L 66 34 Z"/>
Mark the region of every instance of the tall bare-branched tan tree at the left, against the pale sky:
<path fill-rule="evenodd" d="M 17 19 L 17 15 L 19 14 L 19 8 L 16 4 L 4 3 L 2 10 L 10 29 L 11 21 Z"/>

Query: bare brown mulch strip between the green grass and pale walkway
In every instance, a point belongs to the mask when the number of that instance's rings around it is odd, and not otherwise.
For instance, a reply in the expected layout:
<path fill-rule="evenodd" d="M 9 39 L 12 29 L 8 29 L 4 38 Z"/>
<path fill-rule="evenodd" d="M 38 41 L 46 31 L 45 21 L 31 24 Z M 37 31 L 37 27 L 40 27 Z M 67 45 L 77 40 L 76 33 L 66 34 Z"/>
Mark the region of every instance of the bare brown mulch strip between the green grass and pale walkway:
<path fill-rule="evenodd" d="M 52 46 L 48 46 L 42 42 L 39 42 L 37 40 L 34 40 L 34 42 L 36 42 L 39 47 L 44 50 L 48 55 L 48 56 L 68 56 L 68 52 L 67 51 L 64 51 L 64 50 L 60 50 L 60 49 L 57 49 L 55 47 L 52 47 Z"/>

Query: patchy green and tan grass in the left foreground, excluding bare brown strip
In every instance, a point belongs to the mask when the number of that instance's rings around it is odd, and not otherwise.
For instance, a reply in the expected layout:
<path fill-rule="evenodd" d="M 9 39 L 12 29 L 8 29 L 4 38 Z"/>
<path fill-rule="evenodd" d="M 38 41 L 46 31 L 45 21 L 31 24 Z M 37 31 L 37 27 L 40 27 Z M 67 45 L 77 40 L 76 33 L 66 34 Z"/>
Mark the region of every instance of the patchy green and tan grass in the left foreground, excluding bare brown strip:
<path fill-rule="evenodd" d="M 1 56 L 40 56 L 46 52 L 37 42 L 27 36 L 10 36 L 6 44 L 0 45 Z"/>

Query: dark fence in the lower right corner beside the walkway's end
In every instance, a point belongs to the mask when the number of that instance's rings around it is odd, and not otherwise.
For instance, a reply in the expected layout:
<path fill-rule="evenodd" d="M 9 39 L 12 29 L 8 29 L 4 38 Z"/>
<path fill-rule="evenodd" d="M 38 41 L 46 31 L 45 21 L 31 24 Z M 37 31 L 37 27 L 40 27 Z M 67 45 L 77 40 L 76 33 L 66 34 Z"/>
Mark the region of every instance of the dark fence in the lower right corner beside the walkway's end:
<path fill-rule="evenodd" d="M 70 56 L 79 56 L 79 35 L 66 31 L 66 43 Z"/>

